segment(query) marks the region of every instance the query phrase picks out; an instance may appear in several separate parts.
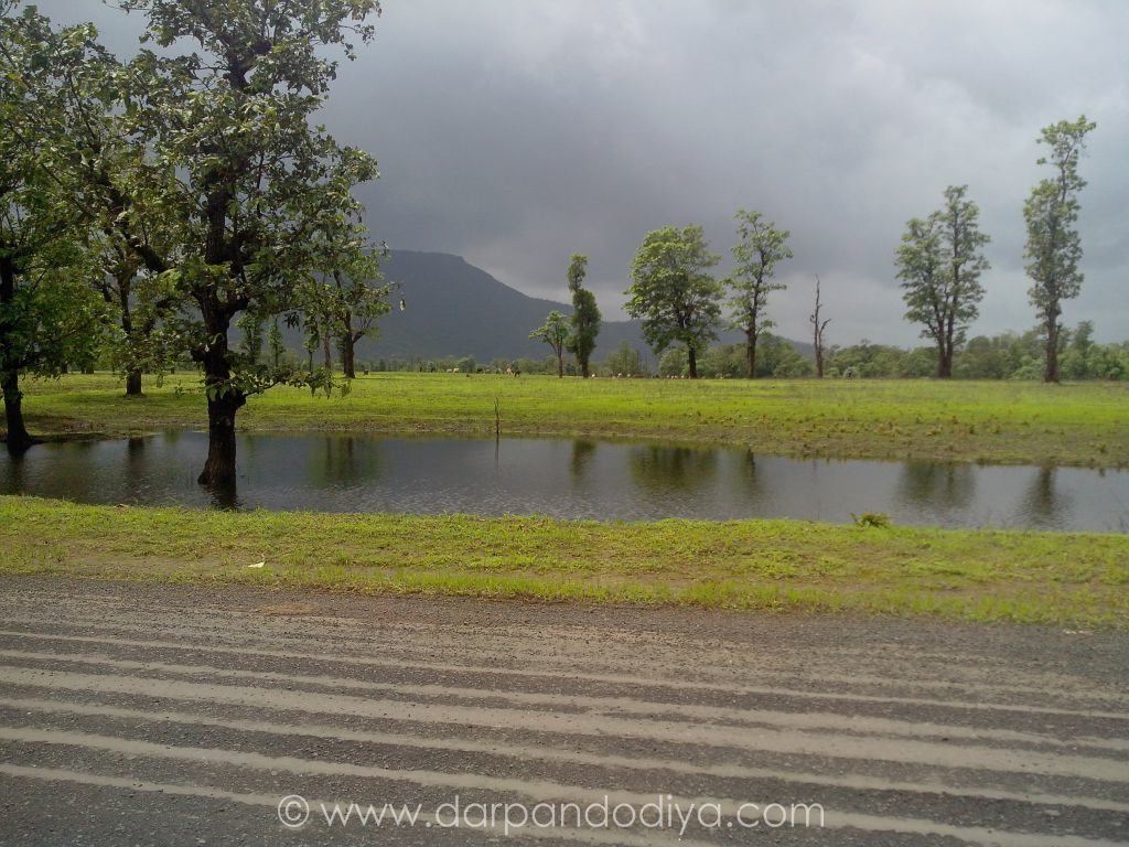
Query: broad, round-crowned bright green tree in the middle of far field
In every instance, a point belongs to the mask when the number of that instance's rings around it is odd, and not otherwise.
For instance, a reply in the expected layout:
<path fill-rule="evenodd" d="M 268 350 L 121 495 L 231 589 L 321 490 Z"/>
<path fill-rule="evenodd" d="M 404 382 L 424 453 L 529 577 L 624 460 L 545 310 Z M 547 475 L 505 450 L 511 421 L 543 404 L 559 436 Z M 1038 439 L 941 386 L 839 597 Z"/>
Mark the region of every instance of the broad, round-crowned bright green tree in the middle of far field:
<path fill-rule="evenodd" d="M 723 287 L 709 269 L 720 259 L 691 224 L 649 233 L 631 262 L 628 314 L 642 318 L 644 338 L 657 355 L 674 343 L 686 348 L 691 379 L 698 378 L 698 355 L 717 338 Z"/>

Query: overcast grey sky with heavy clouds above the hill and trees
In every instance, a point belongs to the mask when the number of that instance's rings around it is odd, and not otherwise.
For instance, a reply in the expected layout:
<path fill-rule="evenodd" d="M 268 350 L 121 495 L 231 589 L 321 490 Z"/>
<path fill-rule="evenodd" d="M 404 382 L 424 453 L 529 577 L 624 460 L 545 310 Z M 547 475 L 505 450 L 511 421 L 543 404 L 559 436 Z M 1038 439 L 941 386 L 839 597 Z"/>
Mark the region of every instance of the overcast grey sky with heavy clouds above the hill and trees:
<path fill-rule="evenodd" d="M 135 41 L 98 0 L 38 0 Z M 831 343 L 916 343 L 893 251 L 905 220 L 968 184 L 992 237 L 973 333 L 1035 323 L 1023 201 L 1039 130 L 1097 122 L 1082 163 L 1086 281 L 1065 321 L 1129 337 L 1129 2 L 1123 0 L 384 0 L 325 122 L 380 163 L 360 190 L 377 239 L 457 253 L 566 299 L 569 254 L 621 316 L 642 237 L 733 215 L 793 234 L 770 313 L 806 339 L 815 274 Z"/>

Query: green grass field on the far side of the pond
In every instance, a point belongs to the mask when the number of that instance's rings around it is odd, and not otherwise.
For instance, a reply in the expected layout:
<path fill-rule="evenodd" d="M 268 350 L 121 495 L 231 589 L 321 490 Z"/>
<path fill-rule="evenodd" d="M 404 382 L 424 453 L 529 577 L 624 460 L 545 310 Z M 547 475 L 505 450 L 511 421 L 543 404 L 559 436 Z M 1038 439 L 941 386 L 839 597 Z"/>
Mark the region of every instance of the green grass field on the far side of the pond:
<path fill-rule="evenodd" d="M 124 400 L 110 375 L 28 381 L 33 431 L 123 435 L 207 426 L 195 376 Z M 938 381 L 557 379 L 379 374 L 345 398 L 273 388 L 240 411 L 246 431 L 353 429 L 739 444 L 841 459 L 1129 466 L 1129 384 Z"/>

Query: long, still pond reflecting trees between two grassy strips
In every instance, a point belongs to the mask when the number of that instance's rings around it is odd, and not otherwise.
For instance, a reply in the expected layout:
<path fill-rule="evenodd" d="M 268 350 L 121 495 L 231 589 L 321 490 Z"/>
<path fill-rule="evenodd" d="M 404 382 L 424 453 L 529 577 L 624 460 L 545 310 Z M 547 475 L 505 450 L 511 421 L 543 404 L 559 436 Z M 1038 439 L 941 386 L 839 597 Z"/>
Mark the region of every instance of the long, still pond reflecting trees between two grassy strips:
<path fill-rule="evenodd" d="M 803 460 L 728 447 L 561 438 L 244 435 L 238 484 L 195 478 L 207 436 L 0 454 L 0 492 L 79 503 L 323 512 L 545 514 L 601 521 L 794 517 L 1129 532 L 1129 471 Z"/>

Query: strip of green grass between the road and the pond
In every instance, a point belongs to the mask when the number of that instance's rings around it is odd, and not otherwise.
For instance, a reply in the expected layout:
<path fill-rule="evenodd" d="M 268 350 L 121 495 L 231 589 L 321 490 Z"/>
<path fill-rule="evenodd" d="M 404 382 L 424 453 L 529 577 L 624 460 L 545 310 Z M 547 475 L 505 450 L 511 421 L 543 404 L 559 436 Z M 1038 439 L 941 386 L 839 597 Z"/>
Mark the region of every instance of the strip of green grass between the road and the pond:
<path fill-rule="evenodd" d="M 1124 535 L 240 514 L 0 497 L 0 550 L 5 574 L 1129 628 Z"/>

